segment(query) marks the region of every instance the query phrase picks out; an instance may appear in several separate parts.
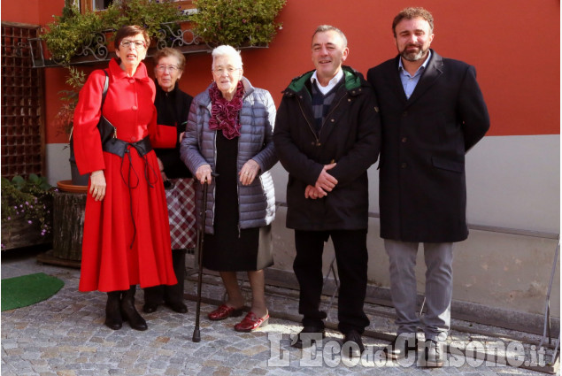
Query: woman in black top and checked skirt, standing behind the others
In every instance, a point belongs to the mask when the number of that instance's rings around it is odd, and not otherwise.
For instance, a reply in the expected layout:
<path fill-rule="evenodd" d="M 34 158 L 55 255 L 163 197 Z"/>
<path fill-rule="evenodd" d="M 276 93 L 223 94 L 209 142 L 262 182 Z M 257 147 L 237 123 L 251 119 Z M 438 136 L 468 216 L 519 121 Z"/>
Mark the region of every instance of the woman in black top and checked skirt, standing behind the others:
<path fill-rule="evenodd" d="M 160 173 L 165 188 L 174 202 L 174 195 L 193 196 L 191 173 L 180 159 L 180 142 L 188 122 L 189 106 L 192 96 L 180 90 L 178 80 L 183 73 L 185 58 L 178 51 L 171 48 L 158 50 L 154 55 L 154 74 L 156 76 L 156 99 L 154 105 L 158 112 L 158 124 L 176 128 L 176 145 L 173 149 L 155 149 L 158 157 Z M 184 203 L 181 203 L 184 205 Z M 183 208 L 184 209 L 184 208 Z M 182 210 L 183 210 L 182 209 Z M 183 284 L 185 278 L 185 254 L 187 248 L 193 248 L 191 239 L 187 236 L 187 221 L 193 221 L 192 213 L 185 218 L 185 212 L 175 212 L 169 208 L 170 230 L 172 235 L 173 270 L 178 283 L 173 286 L 158 286 L 144 289 L 144 305 L 142 311 L 154 312 L 158 304 L 166 304 L 172 311 L 186 313 L 188 307 L 183 303 Z M 181 217 L 178 221 L 176 217 Z M 181 235 L 177 235 L 181 234 Z"/>

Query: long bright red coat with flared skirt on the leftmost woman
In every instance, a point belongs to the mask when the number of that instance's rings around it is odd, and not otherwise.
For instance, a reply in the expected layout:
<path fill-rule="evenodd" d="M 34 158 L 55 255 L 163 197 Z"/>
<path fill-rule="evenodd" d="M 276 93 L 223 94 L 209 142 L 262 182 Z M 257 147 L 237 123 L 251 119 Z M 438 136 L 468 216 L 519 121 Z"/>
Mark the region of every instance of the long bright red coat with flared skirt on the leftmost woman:
<path fill-rule="evenodd" d="M 136 142 L 150 136 L 154 148 L 175 146 L 175 127 L 157 126 L 155 87 L 140 64 L 127 77 L 113 59 L 104 117 L 117 128 L 117 137 Z M 105 74 L 96 70 L 81 89 L 74 111 L 74 154 L 81 173 L 104 170 L 103 201 L 90 194 L 86 201 L 80 291 L 126 290 L 177 283 L 172 266 L 166 195 L 154 151 L 145 160 L 130 148 L 120 158 L 104 152 L 97 131 Z M 149 176 L 149 182 L 145 176 Z M 127 182 L 130 176 L 130 186 Z M 131 247 L 132 242 L 132 247 Z"/>

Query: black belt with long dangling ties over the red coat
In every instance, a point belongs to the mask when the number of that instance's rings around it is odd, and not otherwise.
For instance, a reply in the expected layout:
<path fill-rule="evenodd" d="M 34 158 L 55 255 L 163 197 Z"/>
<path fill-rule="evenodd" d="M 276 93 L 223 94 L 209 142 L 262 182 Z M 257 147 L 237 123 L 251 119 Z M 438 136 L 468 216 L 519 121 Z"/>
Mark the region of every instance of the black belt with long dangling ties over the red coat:
<path fill-rule="evenodd" d="M 144 137 L 141 141 L 138 142 L 124 142 L 123 140 L 119 140 L 119 138 L 110 138 L 109 140 L 105 141 L 102 144 L 102 150 L 107 151 L 108 153 L 115 154 L 116 156 L 121 157 L 121 166 L 119 167 L 119 172 L 121 173 L 121 179 L 129 189 L 129 207 L 131 209 L 131 220 L 133 222 L 133 239 L 131 240 L 131 244 L 129 248 L 133 248 L 133 243 L 135 242 L 136 236 L 136 224 L 135 224 L 135 217 L 133 216 L 133 195 L 132 190 L 137 188 L 139 185 L 139 177 L 136 173 L 135 169 L 133 168 L 132 161 L 131 161 L 131 148 L 135 149 L 139 156 L 142 157 L 144 160 L 144 180 L 149 185 L 149 188 L 154 188 L 154 183 L 158 181 L 158 175 L 154 171 L 151 165 L 147 160 L 146 155 L 152 150 L 152 145 L 150 145 L 150 139 L 148 137 Z M 127 180 L 125 176 L 123 176 L 123 161 L 125 160 L 125 154 L 127 154 L 129 164 L 128 164 L 128 171 L 127 171 Z M 134 184 L 131 184 L 131 173 L 135 174 L 136 181 Z M 150 180 L 150 174 L 152 174 L 153 180 Z"/>

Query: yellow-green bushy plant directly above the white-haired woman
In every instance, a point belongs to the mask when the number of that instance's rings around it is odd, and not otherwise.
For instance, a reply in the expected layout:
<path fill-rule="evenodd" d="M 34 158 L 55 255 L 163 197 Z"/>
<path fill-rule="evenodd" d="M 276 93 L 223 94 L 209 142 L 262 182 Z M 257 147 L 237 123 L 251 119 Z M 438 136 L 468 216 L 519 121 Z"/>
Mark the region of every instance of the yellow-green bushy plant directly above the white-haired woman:
<path fill-rule="evenodd" d="M 286 0 L 195 0 L 191 16 L 196 34 L 210 46 L 259 46 L 271 42 L 281 23 L 275 22 Z"/>

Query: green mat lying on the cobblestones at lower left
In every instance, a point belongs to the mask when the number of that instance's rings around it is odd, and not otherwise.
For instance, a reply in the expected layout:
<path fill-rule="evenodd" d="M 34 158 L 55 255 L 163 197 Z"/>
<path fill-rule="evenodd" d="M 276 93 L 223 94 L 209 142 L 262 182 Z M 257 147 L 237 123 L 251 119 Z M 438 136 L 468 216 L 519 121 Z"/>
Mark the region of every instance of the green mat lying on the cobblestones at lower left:
<path fill-rule="evenodd" d="M 2 280 L 2 311 L 27 307 L 57 294 L 65 282 L 44 272 Z"/>

